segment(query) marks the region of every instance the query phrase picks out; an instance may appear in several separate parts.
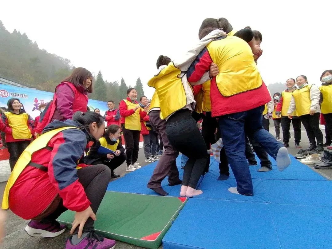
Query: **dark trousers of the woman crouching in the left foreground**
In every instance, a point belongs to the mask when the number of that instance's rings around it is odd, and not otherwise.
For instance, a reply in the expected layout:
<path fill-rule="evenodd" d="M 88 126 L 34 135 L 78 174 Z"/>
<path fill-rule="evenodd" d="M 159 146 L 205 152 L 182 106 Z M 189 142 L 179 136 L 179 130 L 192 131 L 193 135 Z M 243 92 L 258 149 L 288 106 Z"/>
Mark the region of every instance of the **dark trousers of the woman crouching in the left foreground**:
<path fill-rule="evenodd" d="M 97 210 L 102 202 L 108 184 L 111 181 L 111 170 L 103 164 L 92 165 L 77 170 L 78 181 L 82 184 L 85 194 L 91 202 L 90 207 L 96 214 Z M 44 217 L 41 222 L 54 223 L 61 213 L 67 210 L 63 206 L 62 200 L 58 207 L 48 216 Z M 90 232 L 93 230 L 94 220 L 88 218 L 83 227 L 83 232 Z M 78 233 L 77 227 L 74 234 Z"/>

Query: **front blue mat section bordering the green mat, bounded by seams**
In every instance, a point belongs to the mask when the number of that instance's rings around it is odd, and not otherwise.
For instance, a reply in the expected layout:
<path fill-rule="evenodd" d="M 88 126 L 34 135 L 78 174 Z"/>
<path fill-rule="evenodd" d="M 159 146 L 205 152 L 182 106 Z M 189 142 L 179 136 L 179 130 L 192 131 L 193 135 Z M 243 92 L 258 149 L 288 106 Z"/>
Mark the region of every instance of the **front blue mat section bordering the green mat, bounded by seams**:
<path fill-rule="evenodd" d="M 190 199 L 163 239 L 164 249 L 279 248 L 266 204 Z"/>

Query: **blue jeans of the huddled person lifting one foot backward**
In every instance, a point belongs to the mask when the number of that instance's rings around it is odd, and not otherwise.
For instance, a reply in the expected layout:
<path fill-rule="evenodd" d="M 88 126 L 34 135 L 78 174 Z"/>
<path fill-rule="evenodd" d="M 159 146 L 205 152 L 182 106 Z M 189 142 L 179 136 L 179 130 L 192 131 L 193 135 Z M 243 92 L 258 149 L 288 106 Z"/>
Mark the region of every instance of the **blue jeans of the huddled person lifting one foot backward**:
<path fill-rule="evenodd" d="M 245 136 L 255 139 L 274 159 L 284 147 L 267 130 L 263 129 L 264 106 L 219 117 L 220 135 L 225 147 L 229 165 L 241 195 L 254 194 L 248 161 L 245 157 Z"/>

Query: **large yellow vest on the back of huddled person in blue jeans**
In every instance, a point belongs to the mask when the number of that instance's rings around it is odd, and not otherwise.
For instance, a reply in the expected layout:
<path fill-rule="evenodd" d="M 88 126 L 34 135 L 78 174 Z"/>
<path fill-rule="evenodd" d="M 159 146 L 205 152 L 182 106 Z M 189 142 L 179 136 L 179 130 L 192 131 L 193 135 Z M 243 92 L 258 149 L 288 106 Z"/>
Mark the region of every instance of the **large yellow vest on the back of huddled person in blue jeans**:
<path fill-rule="evenodd" d="M 218 65 L 216 83 L 225 97 L 254 90 L 262 86 L 262 78 L 247 42 L 235 36 L 211 41 L 207 50 Z"/>

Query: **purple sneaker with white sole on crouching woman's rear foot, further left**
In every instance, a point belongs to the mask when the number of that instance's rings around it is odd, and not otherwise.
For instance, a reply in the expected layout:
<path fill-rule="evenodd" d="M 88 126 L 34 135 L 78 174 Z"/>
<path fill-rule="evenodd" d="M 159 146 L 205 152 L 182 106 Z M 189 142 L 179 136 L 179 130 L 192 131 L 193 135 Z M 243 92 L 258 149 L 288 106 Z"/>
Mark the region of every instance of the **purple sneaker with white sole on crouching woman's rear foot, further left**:
<path fill-rule="evenodd" d="M 66 230 L 65 225 L 60 225 L 58 222 L 41 223 L 36 220 L 30 220 L 24 230 L 32 237 L 47 237 L 53 238 Z"/>

